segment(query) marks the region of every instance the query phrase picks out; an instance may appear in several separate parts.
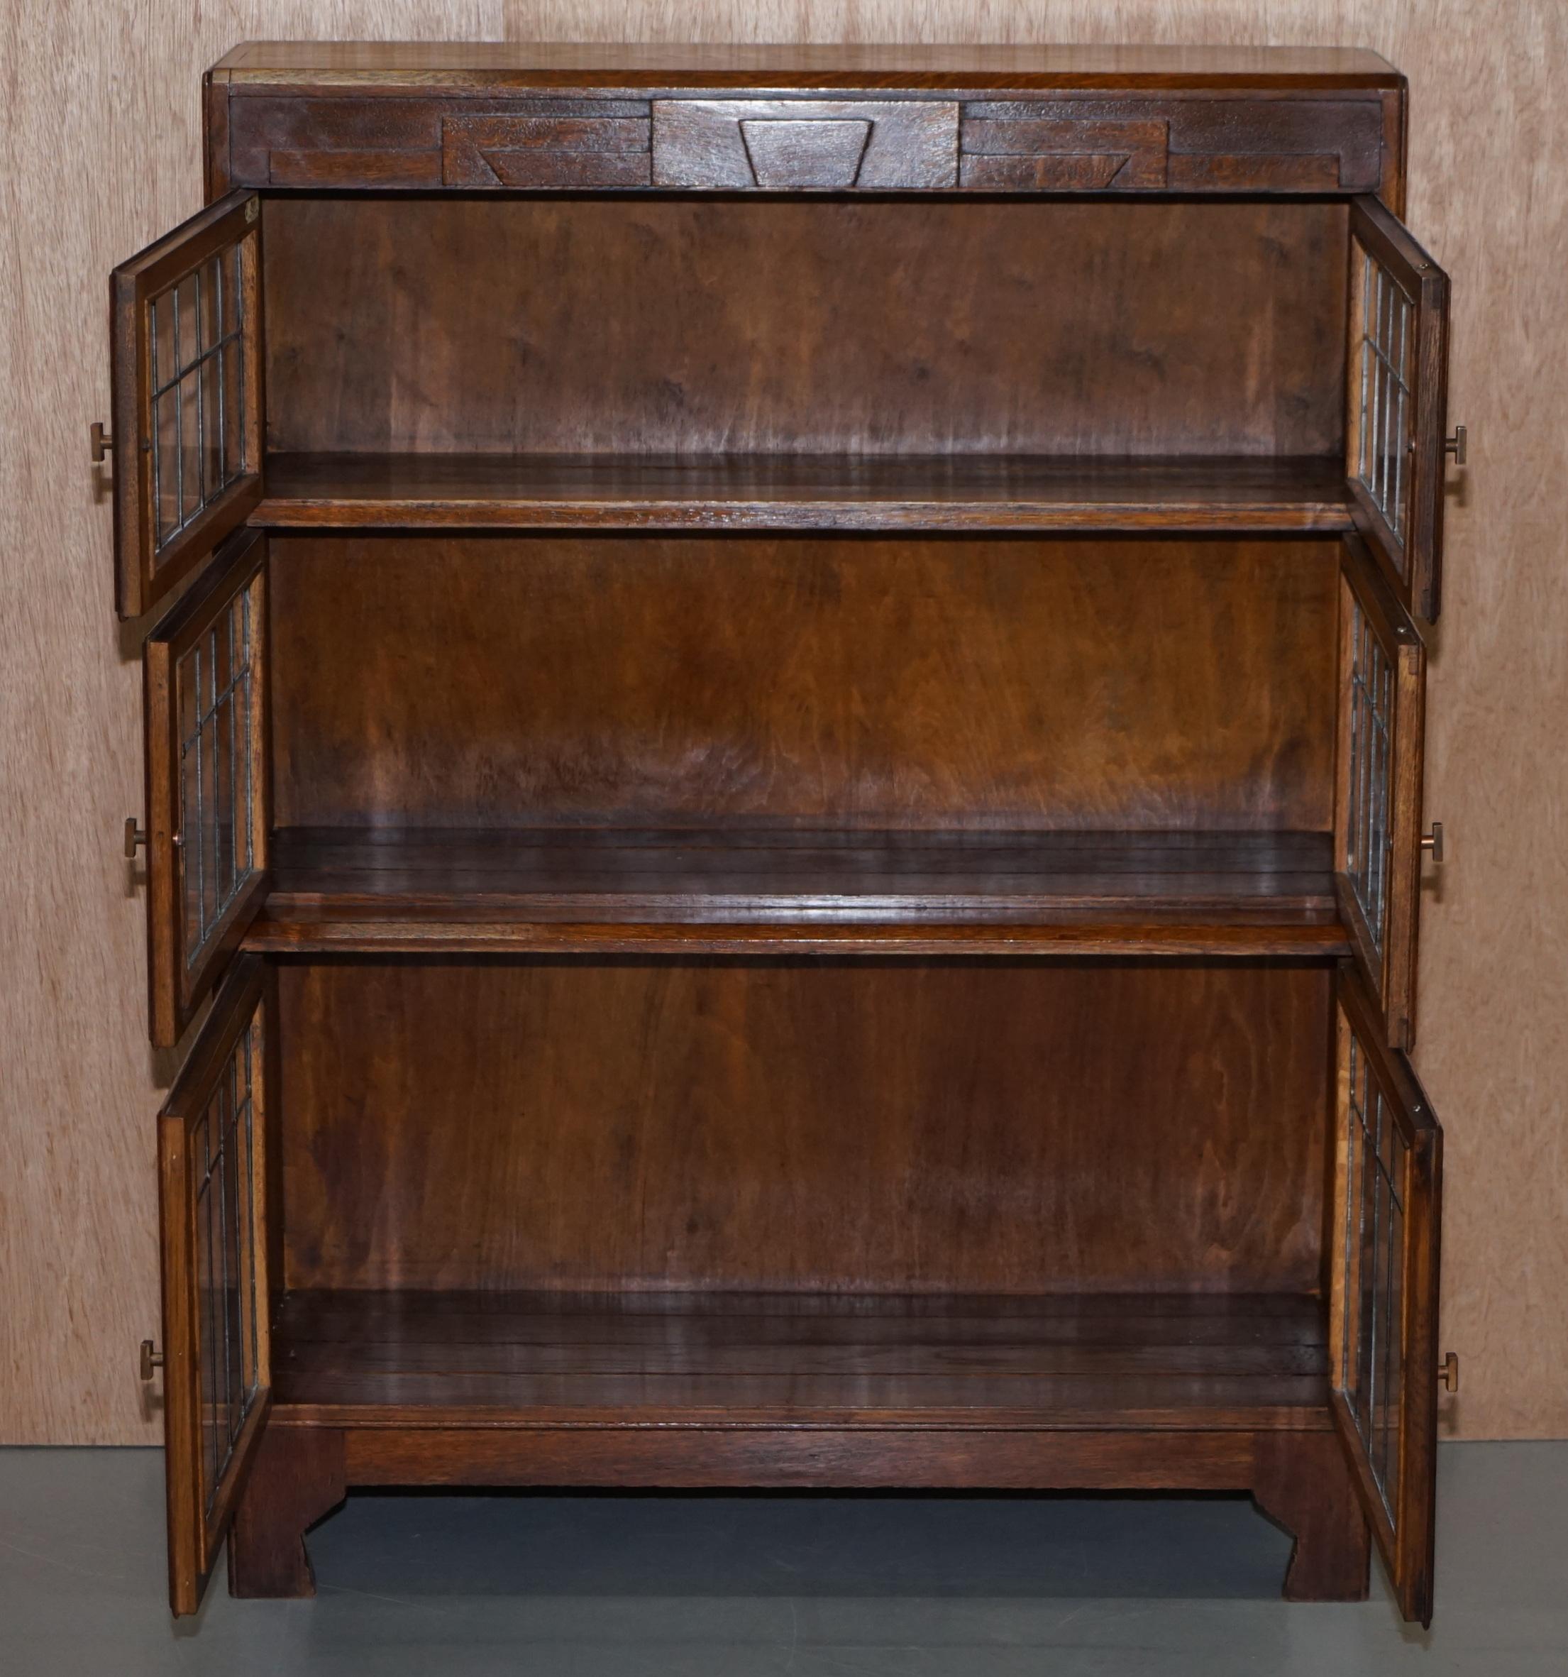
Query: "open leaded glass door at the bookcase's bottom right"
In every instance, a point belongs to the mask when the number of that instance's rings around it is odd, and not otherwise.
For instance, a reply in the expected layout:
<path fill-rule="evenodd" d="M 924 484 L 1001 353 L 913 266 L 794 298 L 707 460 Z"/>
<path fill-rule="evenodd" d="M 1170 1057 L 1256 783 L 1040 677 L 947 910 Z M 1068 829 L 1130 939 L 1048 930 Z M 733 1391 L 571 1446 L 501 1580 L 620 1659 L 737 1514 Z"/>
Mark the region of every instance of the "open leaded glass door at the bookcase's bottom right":
<path fill-rule="evenodd" d="M 1432 1618 L 1442 1130 L 1342 966 L 1330 1353 L 1335 1420 L 1405 1618 Z"/>

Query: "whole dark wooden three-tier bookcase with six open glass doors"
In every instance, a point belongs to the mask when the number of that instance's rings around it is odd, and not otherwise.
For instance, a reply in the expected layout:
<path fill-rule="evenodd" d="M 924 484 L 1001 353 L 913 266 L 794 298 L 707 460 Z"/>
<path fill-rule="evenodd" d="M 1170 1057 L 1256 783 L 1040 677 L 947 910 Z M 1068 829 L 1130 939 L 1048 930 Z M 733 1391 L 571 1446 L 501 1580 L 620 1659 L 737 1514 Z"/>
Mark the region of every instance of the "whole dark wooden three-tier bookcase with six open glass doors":
<path fill-rule="evenodd" d="M 356 1486 L 991 1486 L 1429 1618 L 1404 79 L 245 45 L 205 132 L 96 438 L 174 1610 Z"/>

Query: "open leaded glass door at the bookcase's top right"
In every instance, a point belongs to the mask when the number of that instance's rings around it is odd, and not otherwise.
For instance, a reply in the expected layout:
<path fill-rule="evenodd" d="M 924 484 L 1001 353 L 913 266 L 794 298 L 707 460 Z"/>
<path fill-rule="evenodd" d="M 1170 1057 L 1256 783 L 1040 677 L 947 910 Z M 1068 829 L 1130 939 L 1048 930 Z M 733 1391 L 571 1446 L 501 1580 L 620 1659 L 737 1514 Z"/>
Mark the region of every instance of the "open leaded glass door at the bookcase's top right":
<path fill-rule="evenodd" d="M 1437 617 L 1449 278 L 1375 198 L 1350 205 L 1345 475 L 1400 604 Z"/>

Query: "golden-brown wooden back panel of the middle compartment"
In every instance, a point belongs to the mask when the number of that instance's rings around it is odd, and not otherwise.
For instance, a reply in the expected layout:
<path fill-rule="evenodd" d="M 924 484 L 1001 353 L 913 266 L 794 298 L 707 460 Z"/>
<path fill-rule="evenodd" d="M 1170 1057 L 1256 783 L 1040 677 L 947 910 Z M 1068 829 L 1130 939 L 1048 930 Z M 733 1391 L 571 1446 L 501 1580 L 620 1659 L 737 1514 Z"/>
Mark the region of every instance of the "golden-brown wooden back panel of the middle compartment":
<path fill-rule="evenodd" d="M 285 827 L 1332 822 L 1332 540 L 272 555 Z"/>

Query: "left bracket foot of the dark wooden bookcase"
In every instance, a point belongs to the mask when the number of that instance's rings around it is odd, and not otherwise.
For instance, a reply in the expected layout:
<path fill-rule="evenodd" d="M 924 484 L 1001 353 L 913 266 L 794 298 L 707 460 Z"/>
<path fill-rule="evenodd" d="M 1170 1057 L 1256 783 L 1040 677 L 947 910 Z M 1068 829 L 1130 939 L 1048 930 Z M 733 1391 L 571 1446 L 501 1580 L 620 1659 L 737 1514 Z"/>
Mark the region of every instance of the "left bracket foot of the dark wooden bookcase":
<path fill-rule="evenodd" d="M 342 1434 L 278 1419 L 273 1410 L 235 1508 L 228 1593 L 238 1600 L 315 1595 L 305 1533 L 347 1494 Z"/>

